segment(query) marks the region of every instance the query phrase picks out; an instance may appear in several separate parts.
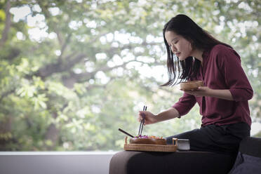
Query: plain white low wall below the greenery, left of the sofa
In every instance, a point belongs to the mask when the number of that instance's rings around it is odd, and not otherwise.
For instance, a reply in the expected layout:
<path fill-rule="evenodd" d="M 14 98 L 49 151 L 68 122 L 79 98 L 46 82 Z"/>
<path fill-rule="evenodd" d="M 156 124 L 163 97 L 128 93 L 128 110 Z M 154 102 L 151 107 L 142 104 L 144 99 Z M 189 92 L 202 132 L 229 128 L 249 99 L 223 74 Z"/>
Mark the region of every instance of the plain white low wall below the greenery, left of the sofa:
<path fill-rule="evenodd" d="M 1 174 L 104 174 L 116 152 L 0 152 Z"/>

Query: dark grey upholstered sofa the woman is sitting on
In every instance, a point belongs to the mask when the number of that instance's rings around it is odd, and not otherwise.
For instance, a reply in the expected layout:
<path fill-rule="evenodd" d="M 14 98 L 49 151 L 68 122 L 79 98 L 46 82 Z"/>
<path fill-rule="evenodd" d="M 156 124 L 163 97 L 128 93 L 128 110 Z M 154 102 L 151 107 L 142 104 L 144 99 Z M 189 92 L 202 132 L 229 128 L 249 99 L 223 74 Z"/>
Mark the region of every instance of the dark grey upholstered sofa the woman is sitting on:
<path fill-rule="evenodd" d="M 243 156 L 255 156 L 261 173 L 261 138 L 242 140 L 239 154 L 217 154 L 213 152 L 134 152 L 123 151 L 112 156 L 109 174 L 153 174 L 153 173 L 236 173 L 242 167 Z M 239 158 L 240 157 L 240 158 Z M 236 161 L 237 160 L 237 161 Z M 236 161 L 236 162 L 235 162 Z M 240 169 L 240 171 L 242 171 Z"/>

